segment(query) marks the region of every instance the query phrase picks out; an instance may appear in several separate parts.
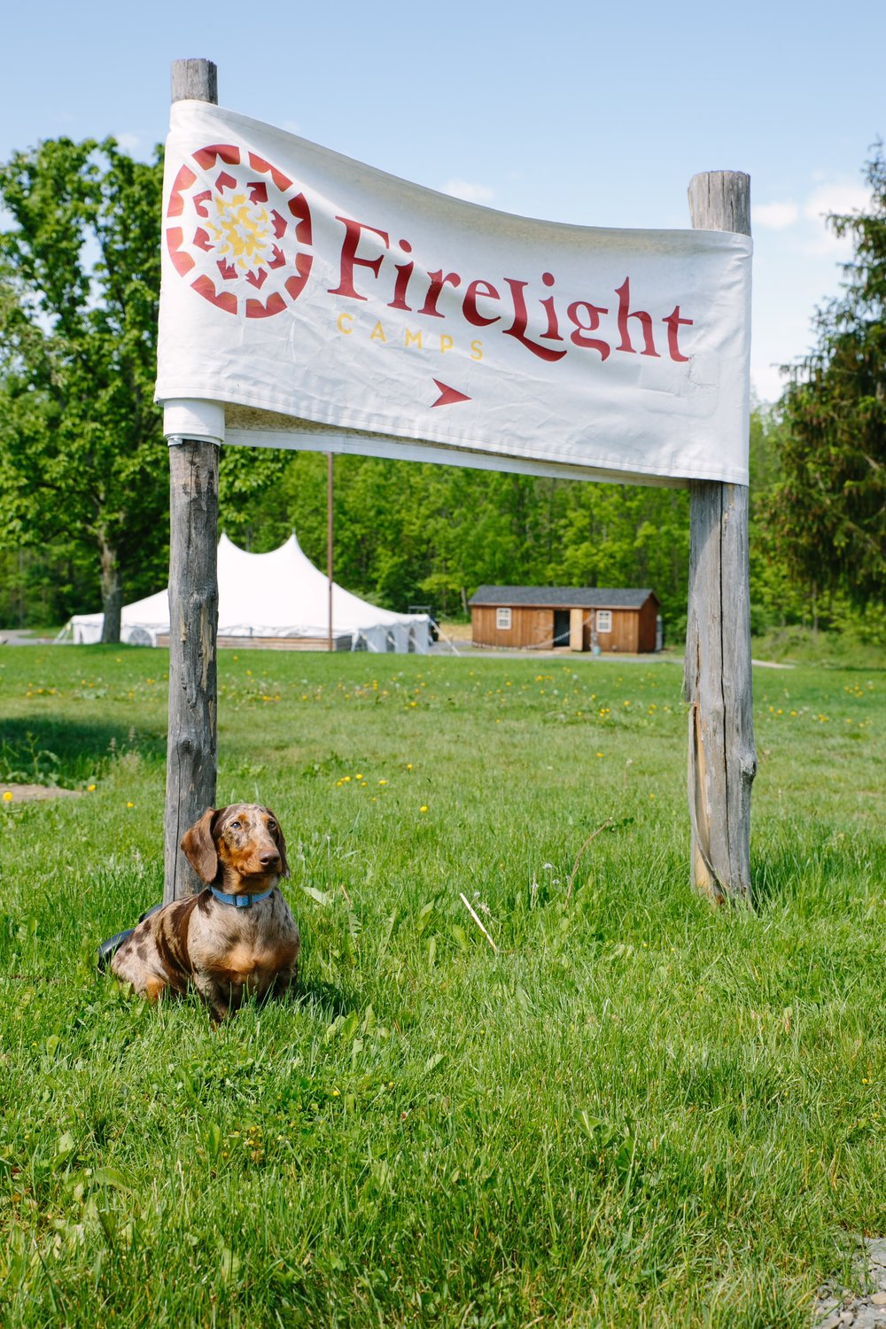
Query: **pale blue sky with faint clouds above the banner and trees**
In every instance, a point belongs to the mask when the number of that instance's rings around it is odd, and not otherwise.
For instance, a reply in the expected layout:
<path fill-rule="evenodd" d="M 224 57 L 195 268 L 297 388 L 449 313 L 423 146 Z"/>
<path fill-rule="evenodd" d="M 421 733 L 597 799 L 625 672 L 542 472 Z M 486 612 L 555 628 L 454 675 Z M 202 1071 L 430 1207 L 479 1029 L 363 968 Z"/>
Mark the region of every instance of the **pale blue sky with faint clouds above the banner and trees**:
<path fill-rule="evenodd" d="M 751 174 L 752 384 L 813 343 L 886 134 L 882 0 L 214 0 L 16 4 L 3 21 L 0 155 L 114 134 L 147 157 L 169 66 L 206 56 L 219 101 L 432 189 L 590 226 L 685 227 L 696 171 Z"/>

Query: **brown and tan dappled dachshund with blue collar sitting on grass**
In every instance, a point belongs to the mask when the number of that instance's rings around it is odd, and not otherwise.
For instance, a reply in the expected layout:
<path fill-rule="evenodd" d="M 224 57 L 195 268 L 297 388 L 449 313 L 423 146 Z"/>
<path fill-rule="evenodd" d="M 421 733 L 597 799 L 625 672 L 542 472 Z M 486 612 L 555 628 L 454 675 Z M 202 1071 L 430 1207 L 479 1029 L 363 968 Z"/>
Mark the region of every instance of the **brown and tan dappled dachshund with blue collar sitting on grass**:
<path fill-rule="evenodd" d="M 274 813 L 255 803 L 207 808 L 182 851 L 206 890 L 139 922 L 112 973 L 150 1001 L 194 986 L 214 1019 L 250 993 L 286 991 L 299 971 L 299 929 L 276 889 L 290 868 Z"/>

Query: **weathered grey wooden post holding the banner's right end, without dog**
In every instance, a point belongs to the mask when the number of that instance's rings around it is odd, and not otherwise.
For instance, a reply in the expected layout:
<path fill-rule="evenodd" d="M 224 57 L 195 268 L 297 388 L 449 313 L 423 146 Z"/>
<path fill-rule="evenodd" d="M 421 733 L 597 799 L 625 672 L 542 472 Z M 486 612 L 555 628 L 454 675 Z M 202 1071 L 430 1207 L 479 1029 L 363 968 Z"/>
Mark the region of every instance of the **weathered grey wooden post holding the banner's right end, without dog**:
<path fill-rule="evenodd" d="M 692 226 L 751 234 L 751 178 L 689 182 Z M 685 698 L 692 881 L 717 904 L 751 898 L 751 785 L 757 772 L 751 676 L 748 489 L 691 482 Z"/>

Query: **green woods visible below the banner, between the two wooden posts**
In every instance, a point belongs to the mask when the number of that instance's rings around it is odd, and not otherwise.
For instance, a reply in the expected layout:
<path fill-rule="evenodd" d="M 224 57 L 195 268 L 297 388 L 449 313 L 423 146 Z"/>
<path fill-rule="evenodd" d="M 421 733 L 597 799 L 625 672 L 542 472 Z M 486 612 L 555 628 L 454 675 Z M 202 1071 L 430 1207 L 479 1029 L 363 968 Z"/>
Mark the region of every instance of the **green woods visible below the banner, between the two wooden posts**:
<path fill-rule="evenodd" d="M 325 457 L 291 457 L 279 482 L 256 492 L 248 518 L 231 501 L 231 478 L 226 489 L 224 459 L 222 470 L 232 538 L 268 549 L 294 528 L 306 554 L 325 566 Z M 256 474 L 244 482 L 262 484 Z M 688 494 L 680 489 L 373 457 L 335 462 L 336 581 L 392 609 L 429 602 L 444 617 L 466 613 L 482 582 L 651 586 L 677 634 L 688 541 Z"/>

